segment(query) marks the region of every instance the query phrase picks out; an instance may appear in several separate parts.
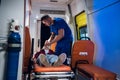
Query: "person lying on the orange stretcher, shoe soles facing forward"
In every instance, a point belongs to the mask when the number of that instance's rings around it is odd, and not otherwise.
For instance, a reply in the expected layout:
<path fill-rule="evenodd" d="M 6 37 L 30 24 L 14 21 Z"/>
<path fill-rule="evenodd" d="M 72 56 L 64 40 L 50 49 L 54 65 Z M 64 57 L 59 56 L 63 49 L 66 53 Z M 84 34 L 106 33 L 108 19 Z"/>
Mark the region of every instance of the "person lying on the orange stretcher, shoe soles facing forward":
<path fill-rule="evenodd" d="M 65 62 L 66 54 L 61 53 L 59 56 L 57 56 L 51 49 L 49 49 L 48 46 L 44 46 L 39 52 L 34 55 L 33 59 L 37 64 L 41 66 L 60 66 Z"/>

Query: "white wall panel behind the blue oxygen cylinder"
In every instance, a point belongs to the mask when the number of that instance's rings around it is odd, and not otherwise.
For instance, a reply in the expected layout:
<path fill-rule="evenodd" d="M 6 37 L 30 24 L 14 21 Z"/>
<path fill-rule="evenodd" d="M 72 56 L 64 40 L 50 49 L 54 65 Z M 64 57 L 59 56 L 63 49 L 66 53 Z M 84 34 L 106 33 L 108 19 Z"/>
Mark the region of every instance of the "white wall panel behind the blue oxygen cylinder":
<path fill-rule="evenodd" d="M 21 38 L 23 37 L 23 24 L 24 24 L 24 0 L 0 0 L 0 37 L 5 37 L 7 41 L 8 37 L 8 23 L 11 19 L 17 19 L 22 28 L 20 31 Z M 23 39 L 22 39 L 23 40 Z M 18 80 L 21 80 L 22 76 L 22 50 L 19 56 L 19 70 Z M 6 51 L 0 51 L 0 80 L 4 80 L 5 77 L 5 65 L 6 65 Z"/>

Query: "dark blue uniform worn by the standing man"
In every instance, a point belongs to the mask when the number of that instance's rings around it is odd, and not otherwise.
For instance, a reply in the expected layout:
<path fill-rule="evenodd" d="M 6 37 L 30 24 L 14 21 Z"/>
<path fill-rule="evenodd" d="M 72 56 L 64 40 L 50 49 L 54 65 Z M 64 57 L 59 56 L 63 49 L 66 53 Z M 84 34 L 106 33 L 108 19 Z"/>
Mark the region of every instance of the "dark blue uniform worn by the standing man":
<path fill-rule="evenodd" d="M 73 36 L 68 24 L 64 21 L 64 19 L 55 18 L 54 24 L 50 26 L 50 29 L 55 35 L 58 35 L 58 30 L 64 29 L 64 37 L 57 42 L 55 52 L 57 55 L 66 53 L 68 57 L 71 56 Z"/>

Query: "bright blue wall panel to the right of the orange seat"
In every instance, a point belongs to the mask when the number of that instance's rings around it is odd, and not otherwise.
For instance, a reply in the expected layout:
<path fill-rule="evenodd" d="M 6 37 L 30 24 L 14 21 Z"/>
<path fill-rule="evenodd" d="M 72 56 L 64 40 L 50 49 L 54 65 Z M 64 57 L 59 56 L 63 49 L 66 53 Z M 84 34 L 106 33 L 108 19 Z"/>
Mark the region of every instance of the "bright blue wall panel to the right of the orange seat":
<path fill-rule="evenodd" d="M 120 74 L 120 0 L 93 0 L 95 64 Z"/>

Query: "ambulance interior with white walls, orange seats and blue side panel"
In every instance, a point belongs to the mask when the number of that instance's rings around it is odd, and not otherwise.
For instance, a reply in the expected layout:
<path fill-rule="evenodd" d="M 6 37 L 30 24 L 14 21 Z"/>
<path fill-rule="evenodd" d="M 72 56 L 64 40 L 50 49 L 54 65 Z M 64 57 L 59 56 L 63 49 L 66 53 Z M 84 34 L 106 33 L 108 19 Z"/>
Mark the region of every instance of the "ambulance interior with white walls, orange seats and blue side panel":
<path fill-rule="evenodd" d="M 17 80 L 120 80 L 119 7 L 120 0 L 0 0 L 0 40 L 5 39 L 5 44 L 0 44 L 0 80 L 8 73 L 10 19 L 21 25 Z M 33 55 L 50 36 L 40 21 L 45 14 L 63 18 L 72 30 L 70 66 L 44 68 L 32 63 Z"/>

